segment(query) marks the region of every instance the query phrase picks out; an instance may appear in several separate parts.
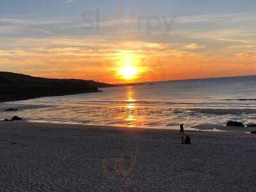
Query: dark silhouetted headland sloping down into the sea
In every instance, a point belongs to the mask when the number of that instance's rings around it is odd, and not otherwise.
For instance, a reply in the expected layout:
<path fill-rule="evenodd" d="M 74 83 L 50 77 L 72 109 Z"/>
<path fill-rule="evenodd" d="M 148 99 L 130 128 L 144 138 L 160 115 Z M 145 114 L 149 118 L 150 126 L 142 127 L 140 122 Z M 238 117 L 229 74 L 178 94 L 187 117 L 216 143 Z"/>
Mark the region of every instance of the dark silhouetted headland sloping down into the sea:
<path fill-rule="evenodd" d="M 99 92 L 111 84 L 81 79 L 47 79 L 12 72 L 0 72 L 0 102 Z"/>

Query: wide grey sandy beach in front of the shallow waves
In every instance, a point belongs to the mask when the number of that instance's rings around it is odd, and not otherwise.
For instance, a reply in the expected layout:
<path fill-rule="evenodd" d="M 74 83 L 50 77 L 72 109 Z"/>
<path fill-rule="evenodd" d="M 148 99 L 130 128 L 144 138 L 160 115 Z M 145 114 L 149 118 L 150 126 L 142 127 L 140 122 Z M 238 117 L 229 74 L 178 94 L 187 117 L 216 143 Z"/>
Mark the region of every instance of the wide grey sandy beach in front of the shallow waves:
<path fill-rule="evenodd" d="M 0 191 L 255 191 L 256 135 L 0 122 Z"/>

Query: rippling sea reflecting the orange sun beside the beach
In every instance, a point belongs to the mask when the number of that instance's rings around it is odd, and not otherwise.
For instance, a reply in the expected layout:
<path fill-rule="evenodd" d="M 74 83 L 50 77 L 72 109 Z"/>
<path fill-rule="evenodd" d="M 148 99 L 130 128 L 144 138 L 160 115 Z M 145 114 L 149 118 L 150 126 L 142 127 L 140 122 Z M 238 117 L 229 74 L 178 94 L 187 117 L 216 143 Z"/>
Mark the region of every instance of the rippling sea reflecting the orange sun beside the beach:
<path fill-rule="evenodd" d="M 205 126 L 205 130 L 213 131 L 220 130 L 212 125 L 226 125 L 229 120 L 256 123 L 256 76 L 163 81 L 101 90 L 6 102 L 0 108 L 27 107 L 2 110 L 0 118 L 18 115 L 29 122 L 156 129 L 179 129 L 183 123 L 189 130 L 204 130 Z"/>

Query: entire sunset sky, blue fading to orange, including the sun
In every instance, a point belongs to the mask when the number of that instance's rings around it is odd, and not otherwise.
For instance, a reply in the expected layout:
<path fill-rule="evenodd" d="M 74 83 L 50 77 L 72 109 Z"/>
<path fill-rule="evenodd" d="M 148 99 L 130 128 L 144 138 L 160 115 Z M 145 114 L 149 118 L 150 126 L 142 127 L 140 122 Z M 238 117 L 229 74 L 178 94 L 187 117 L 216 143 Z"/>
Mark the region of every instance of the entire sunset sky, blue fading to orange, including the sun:
<path fill-rule="evenodd" d="M 106 83 L 256 74 L 255 0 L 1 0 L 0 70 Z"/>

